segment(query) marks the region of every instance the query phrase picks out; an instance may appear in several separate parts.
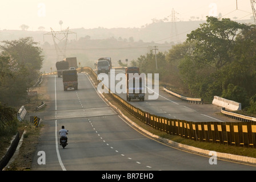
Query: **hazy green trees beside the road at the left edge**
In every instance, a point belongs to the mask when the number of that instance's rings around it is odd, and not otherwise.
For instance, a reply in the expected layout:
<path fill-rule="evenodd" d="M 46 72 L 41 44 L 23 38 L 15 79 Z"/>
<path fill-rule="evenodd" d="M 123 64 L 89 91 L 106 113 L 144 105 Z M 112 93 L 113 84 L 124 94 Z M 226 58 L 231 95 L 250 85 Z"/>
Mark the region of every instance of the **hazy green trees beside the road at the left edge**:
<path fill-rule="evenodd" d="M 0 137 L 18 127 L 15 106 L 25 104 L 27 92 L 40 75 L 43 57 L 32 38 L 3 41 L 0 46 Z"/>

